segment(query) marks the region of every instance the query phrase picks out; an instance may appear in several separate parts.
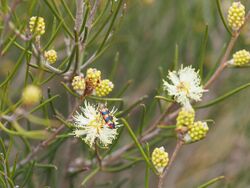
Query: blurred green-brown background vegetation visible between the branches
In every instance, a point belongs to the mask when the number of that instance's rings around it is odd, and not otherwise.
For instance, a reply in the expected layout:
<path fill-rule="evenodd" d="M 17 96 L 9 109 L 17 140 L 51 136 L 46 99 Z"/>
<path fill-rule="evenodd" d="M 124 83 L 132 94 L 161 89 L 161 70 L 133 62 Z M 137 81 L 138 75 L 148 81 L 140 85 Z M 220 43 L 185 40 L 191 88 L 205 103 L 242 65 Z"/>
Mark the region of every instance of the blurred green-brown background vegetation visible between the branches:
<path fill-rule="evenodd" d="M 104 0 L 102 1 L 104 2 Z M 43 1 L 33 2 L 37 8 L 32 13 L 29 13 L 29 7 L 31 7 L 29 1 L 23 1 L 16 14 L 22 22 L 28 22 L 31 14 L 42 15 L 46 20 L 46 35 L 43 36 L 43 42 L 46 43 L 46 36 L 49 36 L 53 27 L 53 16 Z M 73 1 L 66 2 L 74 10 Z M 231 2 L 230 0 L 222 1 L 225 14 Z M 249 1 L 242 0 L 241 2 L 246 5 L 247 10 L 250 9 Z M 57 3 L 58 9 L 63 9 L 60 0 L 57 0 Z M 103 75 L 109 77 L 113 65 L 117 61 L 117 69 L 114 70 L 112 80 L 115 83 L 115 91 L 111 96 L 115 96 L 115 93 L 120 91 L 128 80 L 131 80 L 132 84 L 124 96 L 125 105 L 128 106 L 138 98 L 148 95 L 146 115 L 147 121 L 152 122 L 153 118 L 160 113 L 154 96 L 162 92 L 157 89 L 162 83 L 161 75 L 165 77 L 168 69 L 173 67 L 176 45 L 179 48 L 179 64 L 198 67 L 201 58 L 201 44 L 206 25 L 208 25 L 209 37 L 204 64 L 204 75 L 206 76 L 218 61 L 229 36 L 219 18 L 215 0 L 128 0 L 125 12 L 120 27 L 115 31 L 112 44 L 92 64 L 92 67 L 102 70 Z M 63 14 L 67 24 L 73 27 L 69 15 L 66 12 Z M 244 30 L 234 51 L 249 48 L 250 24 L 248 25 L 249 27 Z M 59 52 L 59 59 L 60 53 L 64 53 L 65 50 L 62 45 L 63 34 L 64 32 L 61 31 L 53 43 L 54 48 Z M 96 45 L 90 46 L 89 51 L 95 49 Z M 13 49 L 10 50 L 10 53 L 0 59 L 1 80 L 13 68 L 20 55 L 18 48 L 14 46 L 11 48 Z M 20 97 L 21 83 L 18 80 L 23 78 L 23 74 L 22 71 L 19 71 L 16 81 L 13 82 L 12 90 L 9 93 L 13 100 L 18 100 Z M 227 69 L 209 89 L 209 93 L 205 94 L 202 103 L 205 104 L 206 101 L 216 96 L 248 83 L 249 80 L 249 69 Z M 52 91 L 57 91 L 63 98 L 65 90 L 58 84 L 59 82 L 59 78 L 54 79 L 44 87 L 50 86 Z M 215 125 L 211 127 L 205 140 L 184 146 L 172 166 L 166 187 L 197 187 L 220 175 L 224 175 L 225 180 L 211 187 L 246 188 L 250 186 L 249 95 L 250 90 L 244 90 L 216 106 L 198 111 L 199 119 L 213 119 Z M 64 113 L 67 112 L 63 100 L 57 100 L 56 104 L 63 109 Z M 131 114 L 130 120 L 135 130 L 139 122 L 137 117 L 140 114 L 139 108 Z M 175 144 L 173 133 L 163 132 L 162 134 L 170 134 L 170 136 L 163 137 L 164 139 L 157 141 L 157 144 L 152 142 L 151 148 L 164 145 L 171 153 Z M 87 147 L 79 140 L 76 142 L 71 150 L 72 158 L 84 157 L 83 153 Z M 116 147 L 119 148 L 128 142 L 130 142 L 130 138 L 127 134 L 123 134 Z M 46 174 L 43 170 L 35 169 L 33 179 L 40 179 L 38 182 L 43 182 L 43 185 L 59 187 L 57 182 L 62 180 L 60 165 L 65 162 L 64 156 L 67 155 L 64 146 L 64 144 L 60 146 L 54 157 L 55 160 L 53 157 L 51 158 L 58 170 L 50 170 Z M 22 148 L 18 147 L 17 144 L 17 150 Z M 95 177 L 95 187 L 144 187 L 144 171 L 145 165 L 139 163 L 120 173 L 100 173 Z M 86 174 L 84 172 L 74 177 L 75 187 L 78 187 L 77 182 L 80 182 Z M 156 180 L 157 178 L 152 174 L 150 187 L 156 187 Z M 43 185 L 30 183 L 27 187 L 42 187 Z"/>

